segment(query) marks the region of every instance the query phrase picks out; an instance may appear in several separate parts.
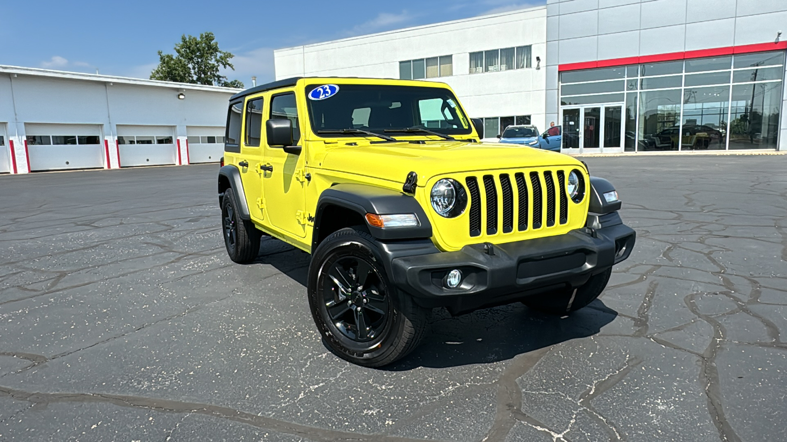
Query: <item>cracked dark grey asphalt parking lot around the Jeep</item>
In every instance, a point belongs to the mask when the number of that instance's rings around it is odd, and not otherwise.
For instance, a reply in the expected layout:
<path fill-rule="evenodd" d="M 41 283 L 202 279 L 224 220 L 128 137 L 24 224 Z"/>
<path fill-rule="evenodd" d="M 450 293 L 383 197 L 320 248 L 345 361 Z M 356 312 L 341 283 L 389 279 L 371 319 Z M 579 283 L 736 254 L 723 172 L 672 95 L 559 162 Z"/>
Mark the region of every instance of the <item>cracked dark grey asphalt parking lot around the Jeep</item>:
<path fill-rule="evenodd" d="M 0 440 L 787 440 L 787 157 L 596 157 L 637 230 L 566 318 L 320 342 L 309 256 L 227 258 L 215 164 L 0 176 Z"/>

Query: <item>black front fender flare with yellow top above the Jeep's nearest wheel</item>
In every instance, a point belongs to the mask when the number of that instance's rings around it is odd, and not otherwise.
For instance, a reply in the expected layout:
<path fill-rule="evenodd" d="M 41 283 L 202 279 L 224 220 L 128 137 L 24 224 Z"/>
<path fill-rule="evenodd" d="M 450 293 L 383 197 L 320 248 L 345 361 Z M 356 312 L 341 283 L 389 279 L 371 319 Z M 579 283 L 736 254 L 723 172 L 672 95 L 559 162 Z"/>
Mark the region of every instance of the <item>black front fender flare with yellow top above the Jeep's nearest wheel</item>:
<path fill-rule="evenodd" d="M 312 234 L 312 250 L 316 249 L 320 238 L 320 222 L 325 208 L 338 206 L 358 213 L 369 229 L 369 233 L 379 240 L 403 240 L 431 238 L 432 224 L 421 204 L 411 195 L 401 191 L 386 189 L 366 184 L 337 184 L 324 190 L 317 201 Z M 415 214 L 419 221 L 417 227 L 380 228 L 369 225 L 367 213 L 375 215 L 392 215 L 397 213 Z"/>

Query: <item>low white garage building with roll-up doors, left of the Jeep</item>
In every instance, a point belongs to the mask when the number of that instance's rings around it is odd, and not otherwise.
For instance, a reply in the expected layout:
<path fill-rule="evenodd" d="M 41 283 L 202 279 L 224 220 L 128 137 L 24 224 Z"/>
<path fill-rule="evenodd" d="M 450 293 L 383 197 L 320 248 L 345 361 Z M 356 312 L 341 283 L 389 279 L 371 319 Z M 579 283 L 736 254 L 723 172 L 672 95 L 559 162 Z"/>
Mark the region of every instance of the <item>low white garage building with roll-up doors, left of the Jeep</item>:
<path fill-rule="evenodd" d="M 236 92 L 0 66 L 0 173 L 218 161 Z"/>

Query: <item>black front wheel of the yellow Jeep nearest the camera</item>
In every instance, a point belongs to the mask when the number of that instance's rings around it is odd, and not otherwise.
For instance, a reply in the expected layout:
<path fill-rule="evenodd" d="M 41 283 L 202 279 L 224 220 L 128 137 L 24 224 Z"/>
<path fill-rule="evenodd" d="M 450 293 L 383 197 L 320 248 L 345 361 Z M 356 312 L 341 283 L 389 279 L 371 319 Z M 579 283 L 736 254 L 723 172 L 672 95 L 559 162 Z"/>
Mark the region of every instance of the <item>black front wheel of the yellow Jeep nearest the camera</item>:
<path fill-rule="evenodd" d="M 361 366 L 407 355 L 427 327 L 426 311 L 394 288 L 363 227 L 338 230 L 317 247 L 309 266 L 309 307 L 334 353 Z"/>

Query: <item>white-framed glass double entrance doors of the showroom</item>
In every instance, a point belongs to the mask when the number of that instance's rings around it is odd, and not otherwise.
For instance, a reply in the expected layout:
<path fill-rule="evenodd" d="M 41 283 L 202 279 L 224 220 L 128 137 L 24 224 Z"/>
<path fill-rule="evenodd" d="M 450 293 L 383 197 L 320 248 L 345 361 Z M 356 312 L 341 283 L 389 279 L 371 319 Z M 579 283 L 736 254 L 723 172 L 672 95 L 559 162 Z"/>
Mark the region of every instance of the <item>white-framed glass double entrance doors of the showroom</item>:
<path fill-rule="evenodd" d="M 623 152 L 623 105 L 563 108 L 563 149 Z"/>

